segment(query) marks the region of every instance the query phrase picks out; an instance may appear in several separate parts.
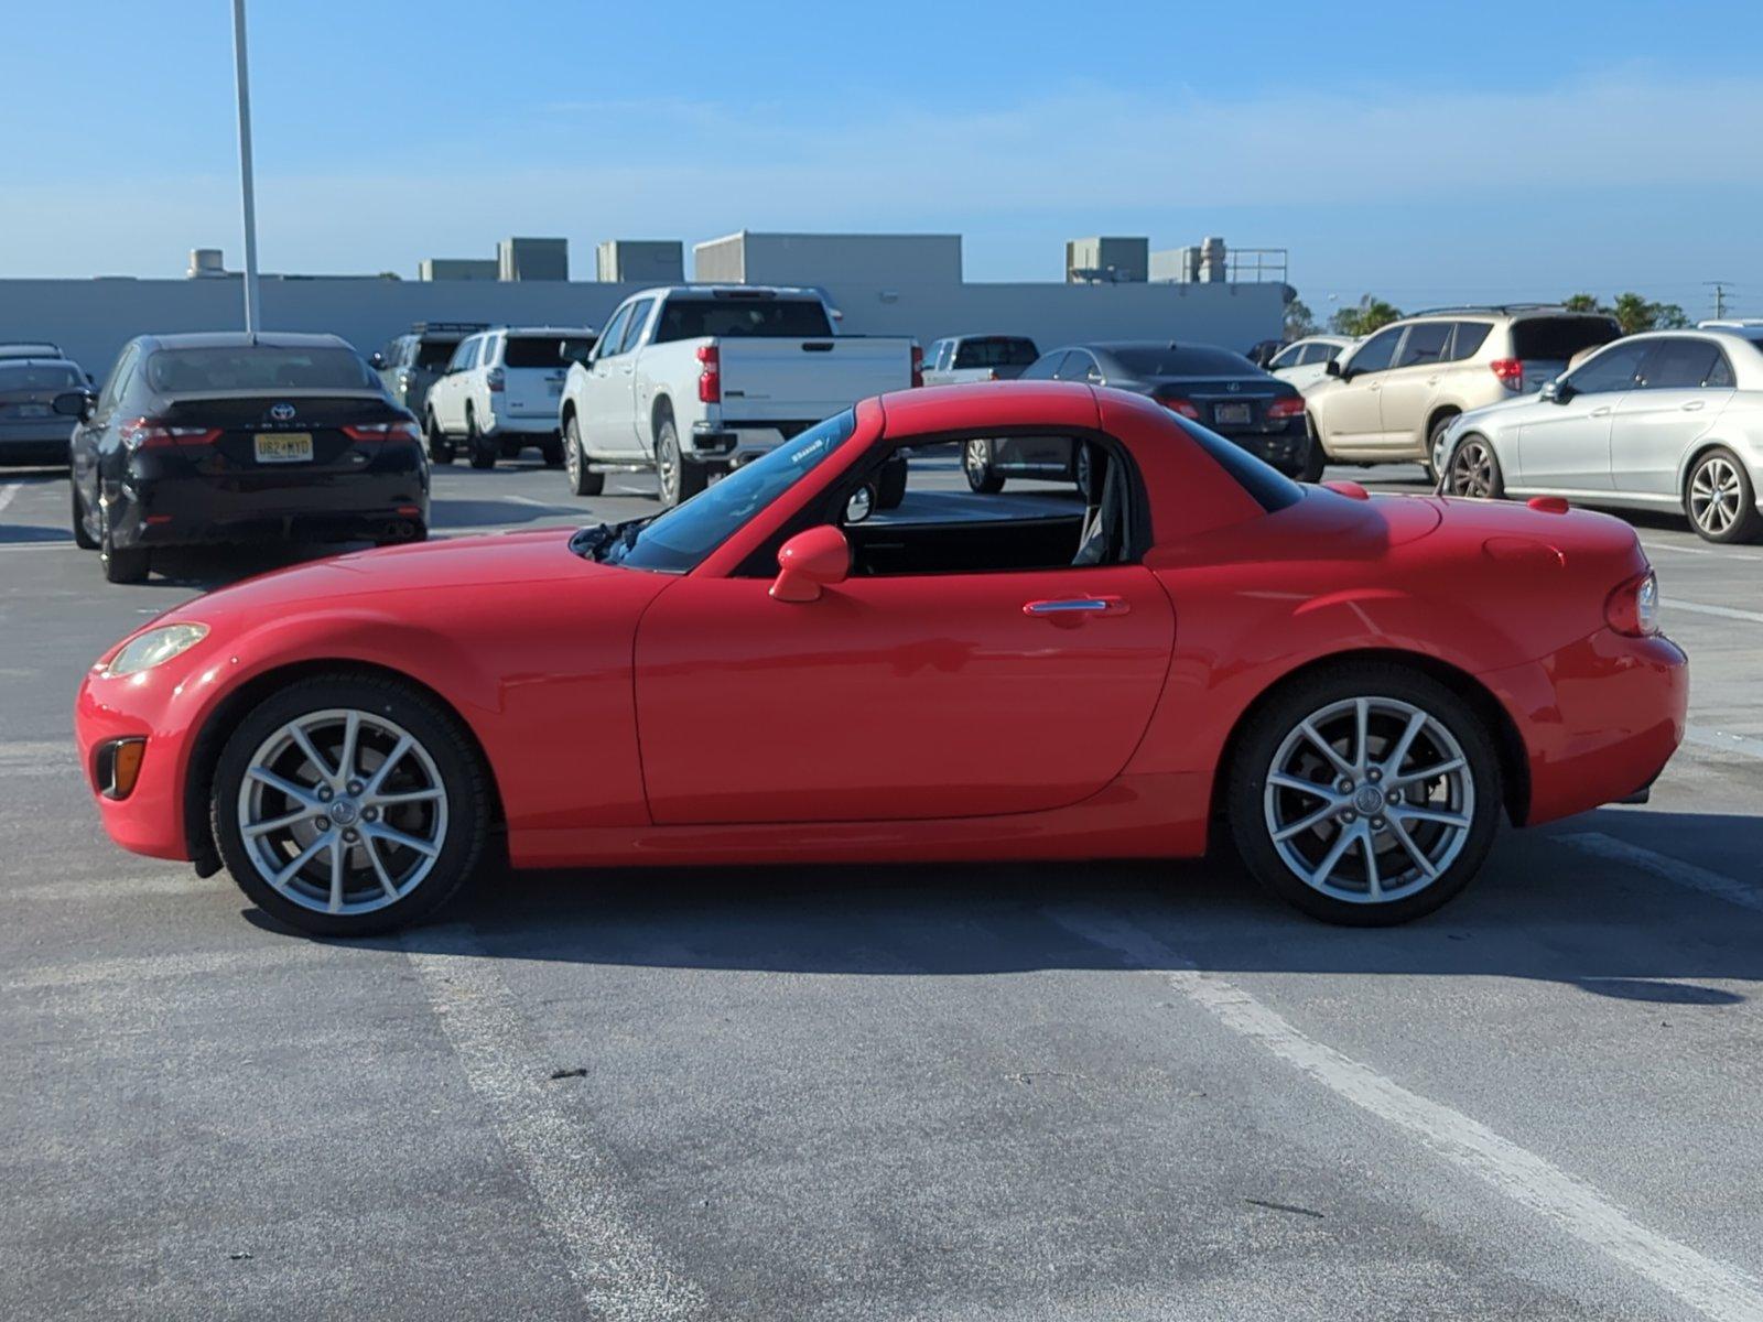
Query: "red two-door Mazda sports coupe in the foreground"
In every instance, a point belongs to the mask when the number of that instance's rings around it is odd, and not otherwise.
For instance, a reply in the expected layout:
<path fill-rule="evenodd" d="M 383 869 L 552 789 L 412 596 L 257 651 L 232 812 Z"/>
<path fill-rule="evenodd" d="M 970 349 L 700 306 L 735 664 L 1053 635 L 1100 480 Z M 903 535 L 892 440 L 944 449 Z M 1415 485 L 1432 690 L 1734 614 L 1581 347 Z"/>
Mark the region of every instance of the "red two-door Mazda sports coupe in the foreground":
<path fill-rule="evenodd" d="M 973 439 L 1088 483 L 973 497 Z M 880 474 L 948 448 L 950 490 Z M 978 504 L 984 516 L 973 515 Z M 1641 795 L 1684 733 L 1634 532 L 1305 486 L 1153 400 L 866 400 L 647 520 L 398 546 L 190 601 L 78 702 L 104 827 L 314 932 L 515 867 L 1195 857 L 1389 924 L 1499 818 Z M 829 883 L 834 883 L 829 878 Z"/>

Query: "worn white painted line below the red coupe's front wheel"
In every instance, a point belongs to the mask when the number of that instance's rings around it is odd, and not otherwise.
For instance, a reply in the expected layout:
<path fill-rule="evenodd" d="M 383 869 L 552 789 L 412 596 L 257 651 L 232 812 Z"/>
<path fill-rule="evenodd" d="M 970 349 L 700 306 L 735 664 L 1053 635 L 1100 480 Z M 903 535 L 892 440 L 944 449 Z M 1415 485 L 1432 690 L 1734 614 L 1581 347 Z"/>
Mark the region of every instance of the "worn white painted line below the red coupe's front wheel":
<path fill-rule="evenodd" d="M 547 1091 L 520 1006 L 471 927 L 404 938 L 465 1079 L 538 1197 L 539 1220 L 566 1251 L 594 1317 L 688 1318 L 705 1313 L 696 1283 L 668 1269 L 621 1206 L 621 1174 Z"/>

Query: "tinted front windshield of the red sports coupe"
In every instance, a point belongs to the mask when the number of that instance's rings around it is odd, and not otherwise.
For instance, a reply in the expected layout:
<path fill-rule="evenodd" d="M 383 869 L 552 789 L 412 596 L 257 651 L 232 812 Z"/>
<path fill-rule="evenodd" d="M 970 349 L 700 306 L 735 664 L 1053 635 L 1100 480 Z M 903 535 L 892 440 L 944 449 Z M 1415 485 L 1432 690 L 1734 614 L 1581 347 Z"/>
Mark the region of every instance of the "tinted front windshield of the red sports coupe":
<path fill-rule="evenodd" d="M 686 573 L 850 441 L 855 430 L 857 414 L 846 409 L 785 441 L 763 458 L 744 464 L 677 509 L 617 527 L 601 524 L 578 532 L 571 545 L 578 553 L 606 564 Z"/>

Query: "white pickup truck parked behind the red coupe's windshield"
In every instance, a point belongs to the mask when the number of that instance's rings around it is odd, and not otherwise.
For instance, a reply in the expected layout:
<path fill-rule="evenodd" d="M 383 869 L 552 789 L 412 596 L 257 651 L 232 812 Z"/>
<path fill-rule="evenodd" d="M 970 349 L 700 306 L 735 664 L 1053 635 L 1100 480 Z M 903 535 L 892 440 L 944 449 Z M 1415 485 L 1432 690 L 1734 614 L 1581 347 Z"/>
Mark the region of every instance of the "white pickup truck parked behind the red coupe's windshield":
<path fill-rule="evenodd" d="M 557 425 L 577 495 L 654 469 L 675 506 L 867 395 L 920 382 L 906 337 L 837 335 L 815 289 L 668 286 L 631 294 L 569 368 Z"/>

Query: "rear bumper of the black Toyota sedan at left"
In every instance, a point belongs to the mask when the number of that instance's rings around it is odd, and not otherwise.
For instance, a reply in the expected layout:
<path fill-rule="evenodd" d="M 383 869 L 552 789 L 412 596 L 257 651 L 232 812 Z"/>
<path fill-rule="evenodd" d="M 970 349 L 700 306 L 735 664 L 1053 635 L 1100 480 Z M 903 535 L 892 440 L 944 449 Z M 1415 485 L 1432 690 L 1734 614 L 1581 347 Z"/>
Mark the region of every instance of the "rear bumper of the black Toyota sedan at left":
<path fill-rule="evenodd" d="M 428 524 L 428 464 L 416 444 L 386 446 L 353 472 L 238 478 L 132 472 L 113 504 L 118 546 L 226 541 L 314 541 L 391 536 L 397 522 Z"/>

